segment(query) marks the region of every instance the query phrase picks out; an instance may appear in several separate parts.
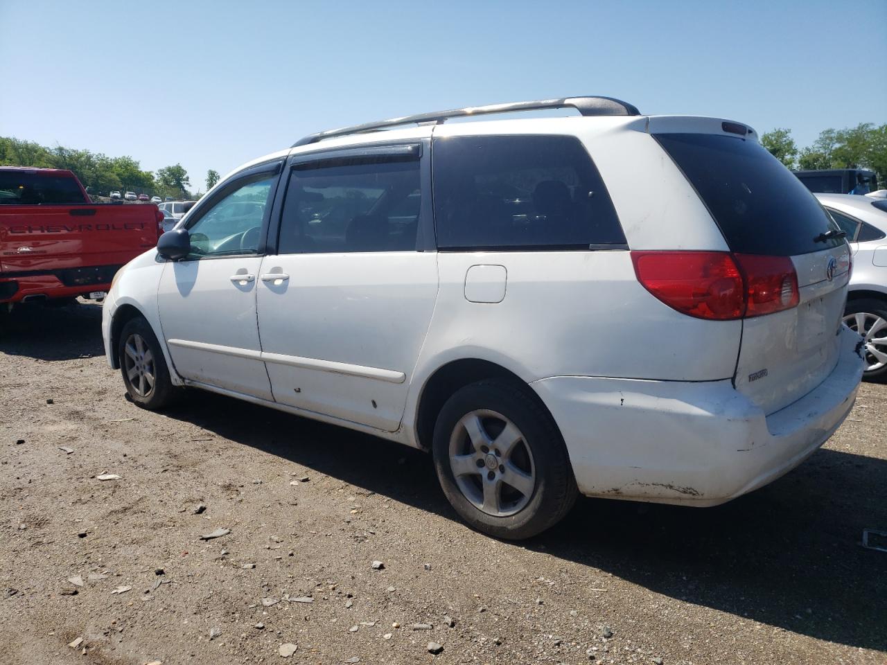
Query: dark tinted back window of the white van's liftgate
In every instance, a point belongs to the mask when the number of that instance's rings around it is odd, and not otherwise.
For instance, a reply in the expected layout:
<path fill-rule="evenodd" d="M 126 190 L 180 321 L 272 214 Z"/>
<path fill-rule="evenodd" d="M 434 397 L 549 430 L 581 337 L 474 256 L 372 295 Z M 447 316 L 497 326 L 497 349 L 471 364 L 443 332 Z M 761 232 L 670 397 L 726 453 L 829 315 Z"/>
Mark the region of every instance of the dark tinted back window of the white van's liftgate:
<path fill-rule="evenodd" d="M 792 256 L 839 246 L 825 208 L 757 141 L 717 134 L 656 134 L 709 208 L 731 250 Z"/>

